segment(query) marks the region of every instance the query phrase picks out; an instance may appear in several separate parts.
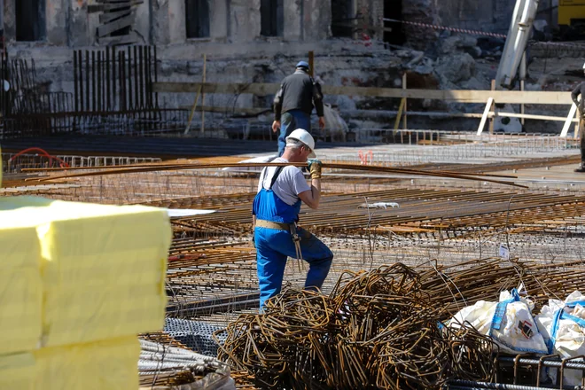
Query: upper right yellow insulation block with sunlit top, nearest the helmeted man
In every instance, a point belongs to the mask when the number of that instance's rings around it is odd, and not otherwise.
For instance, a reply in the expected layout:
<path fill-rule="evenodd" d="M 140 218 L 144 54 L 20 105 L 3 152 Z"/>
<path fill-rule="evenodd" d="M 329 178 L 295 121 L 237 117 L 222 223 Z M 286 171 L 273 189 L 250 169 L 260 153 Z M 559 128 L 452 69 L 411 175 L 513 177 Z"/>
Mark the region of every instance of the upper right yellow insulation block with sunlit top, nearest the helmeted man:
<path fill-rule="evenodd" d="M 0 227 L 11 221 L 36 225 L 43 347 L 162 327 L 171 241 L 165 210 L 32 197 L 0 199 L 0 210 Z"/>

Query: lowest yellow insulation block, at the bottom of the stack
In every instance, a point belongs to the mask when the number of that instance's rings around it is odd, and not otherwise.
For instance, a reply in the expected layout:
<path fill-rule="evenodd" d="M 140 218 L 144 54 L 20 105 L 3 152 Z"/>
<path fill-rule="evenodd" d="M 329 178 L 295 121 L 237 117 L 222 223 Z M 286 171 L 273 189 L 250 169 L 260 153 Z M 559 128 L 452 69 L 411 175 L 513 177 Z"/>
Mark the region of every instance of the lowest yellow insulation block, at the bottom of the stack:
<path fill-rule="evenodd" d="M 0 389 L 136 390 L 136 337 L 0 355 Z"/>

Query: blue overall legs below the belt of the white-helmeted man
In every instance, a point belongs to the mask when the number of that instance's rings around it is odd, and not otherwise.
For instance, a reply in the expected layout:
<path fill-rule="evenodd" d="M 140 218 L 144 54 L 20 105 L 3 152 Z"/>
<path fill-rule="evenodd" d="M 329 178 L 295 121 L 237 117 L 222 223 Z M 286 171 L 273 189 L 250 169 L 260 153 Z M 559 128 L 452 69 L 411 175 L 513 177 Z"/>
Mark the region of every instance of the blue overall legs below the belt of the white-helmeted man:
<path fill-rule="evenodd" d="M 305 289 L 321 288 L 333 261 L 333 253 L 307 230 L 298 228 L 302 259 L 308 262 L 309 269 Z M 297 253 L 289 231 L 268 228 L 254 229 L 256 246 L 256 267 L 260 285 L 260 308 L 264 302 L 280 292 L 285 275 L 286 260 L 295 259 Z"/>

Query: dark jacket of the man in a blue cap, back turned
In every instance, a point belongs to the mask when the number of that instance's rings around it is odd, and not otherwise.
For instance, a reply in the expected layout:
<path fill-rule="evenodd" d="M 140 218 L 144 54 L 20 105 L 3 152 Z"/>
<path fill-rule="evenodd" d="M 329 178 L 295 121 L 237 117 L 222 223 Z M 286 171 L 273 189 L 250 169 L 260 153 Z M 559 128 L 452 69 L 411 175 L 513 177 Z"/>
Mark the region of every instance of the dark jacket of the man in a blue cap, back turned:
<path fill-rule="evenodd" d="M 301 110 L 311 114 L 313 104 L 318 116 L 323 116 L 323 93 L 321 85 L 303 71 L 296 71 L 280 84 L 280 90 L 274 98 L 274 119 L 280 121 L 280 115 L 291 110 Z"/>

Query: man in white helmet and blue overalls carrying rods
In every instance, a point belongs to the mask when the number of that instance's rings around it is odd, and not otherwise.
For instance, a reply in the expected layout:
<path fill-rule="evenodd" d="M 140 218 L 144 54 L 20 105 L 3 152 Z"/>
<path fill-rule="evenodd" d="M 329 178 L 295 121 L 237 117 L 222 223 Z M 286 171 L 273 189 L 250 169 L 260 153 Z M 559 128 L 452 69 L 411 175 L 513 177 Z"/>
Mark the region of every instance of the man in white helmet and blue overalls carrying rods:
<path fill-rule="evenodd" d="M 321 240 L 297 227 L 301 201 L 316 209 L 321 199 L 321 161 L 315 158 L 315 140 L 307 130 L 286 137 L 285 153 L 272 162 L 307 162 L 311 186 L 299 168 L 267 167 L 260 175 L 253 200 L 254 245 L 260 285 L 260 308 L 280 292 L 287 257 L 307 261 L 306 289 L 320 289 L 331 268 L 333 253 Z"/>

